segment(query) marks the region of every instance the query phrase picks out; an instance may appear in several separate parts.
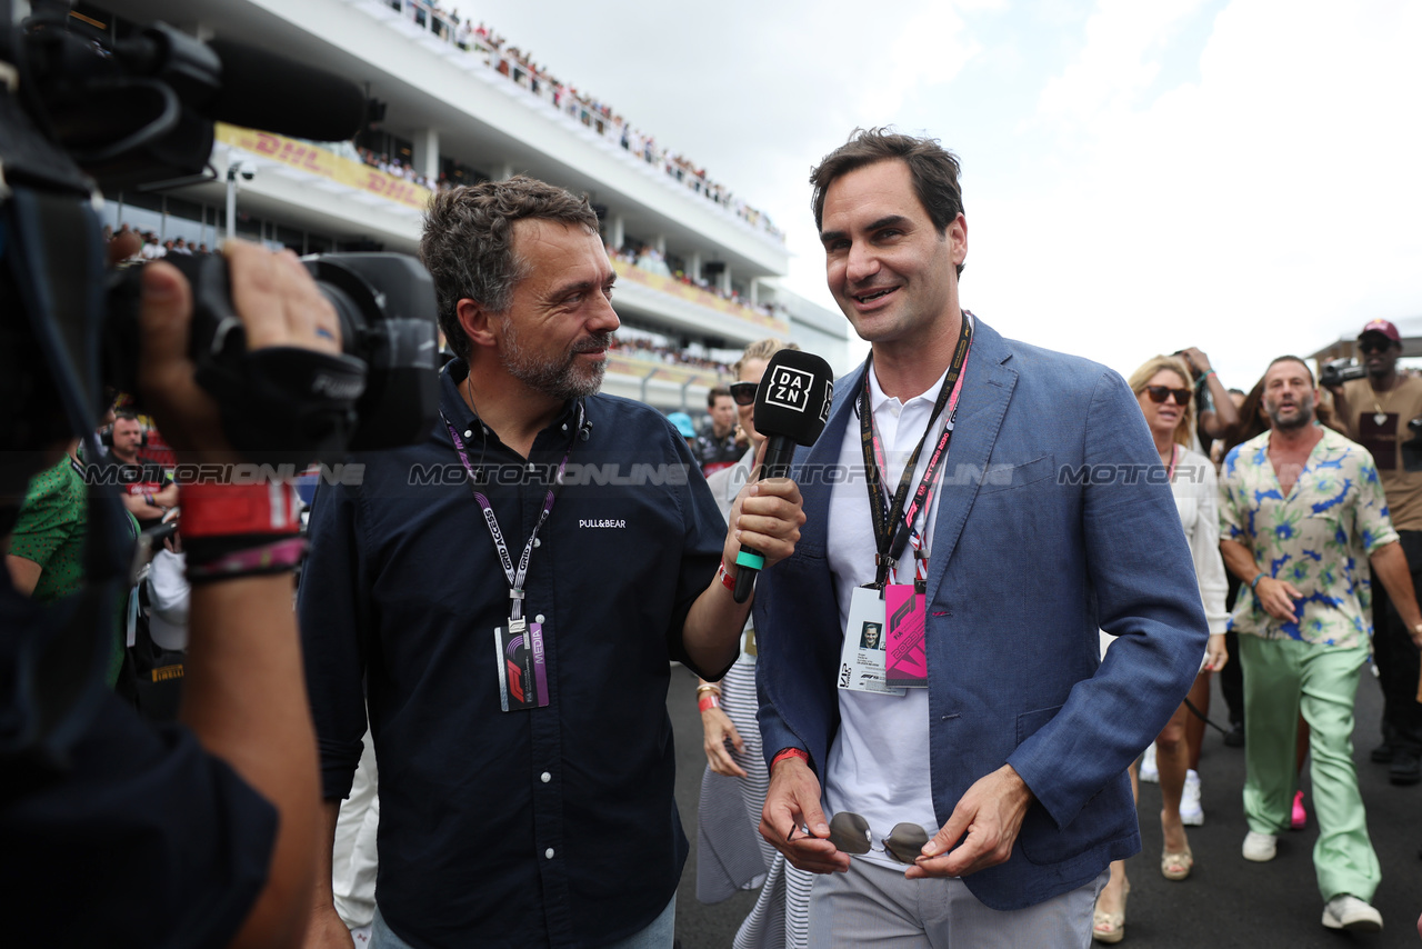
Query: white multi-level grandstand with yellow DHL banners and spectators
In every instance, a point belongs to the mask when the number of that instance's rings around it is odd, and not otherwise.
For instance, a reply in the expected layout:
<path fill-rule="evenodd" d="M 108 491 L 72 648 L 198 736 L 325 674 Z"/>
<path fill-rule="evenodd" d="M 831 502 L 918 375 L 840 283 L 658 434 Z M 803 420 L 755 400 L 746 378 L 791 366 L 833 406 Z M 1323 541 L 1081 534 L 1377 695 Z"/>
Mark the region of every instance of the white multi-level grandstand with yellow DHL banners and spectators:
<path fill-rule="evenodd" d="M 627 343 L 604 391 L 695 413 L 724 366 L 765 336 L 848 369 L 848 323 L 781 286 L 784 236 L 734 182 L 661 145 L 656 115 L 623 120 L 579 95 L 574 77 L 522 60 L 515 40 L 476 30 L 476 7 L 464 21 L 424 0 L 111 0 L 75 13 L 119 34 L 164 20 L 257 44 L 356 80 L 377 104 L 378 121 L 336 145 L 219 125 L 213 179 L 108 195 L 115 229 L 213 248 L 235 189 L 237 236 L 301 253 L 414 253 L 431 188 L 525 172 L 586 192 L 602 221 Z"/>

